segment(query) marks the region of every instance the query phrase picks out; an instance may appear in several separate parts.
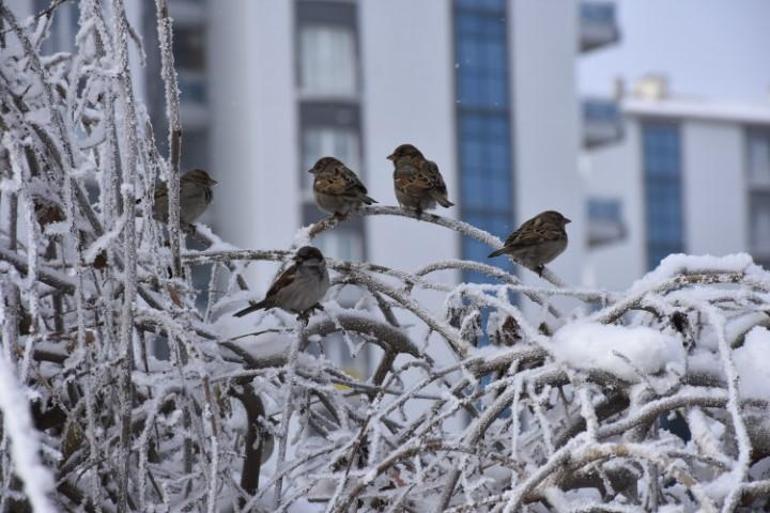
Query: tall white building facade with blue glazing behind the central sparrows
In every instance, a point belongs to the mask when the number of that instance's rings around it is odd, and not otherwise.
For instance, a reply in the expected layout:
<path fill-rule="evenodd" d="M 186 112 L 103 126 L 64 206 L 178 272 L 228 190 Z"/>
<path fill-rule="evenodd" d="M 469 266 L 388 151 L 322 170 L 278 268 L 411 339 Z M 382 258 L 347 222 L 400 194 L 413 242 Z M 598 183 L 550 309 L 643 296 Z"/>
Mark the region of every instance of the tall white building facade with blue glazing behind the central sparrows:
<path fill-rule="evenodd" d="M 574 59 L 617 36 L 601 32 L 595 11 L 525 0 L 228 5 L 209 6 L 207 45 L 211 167 L 227 198 L 216 202 L 214 222 L 227 240 L 290 245 L 321 216 L 306 171 L 327 154 L 357 171 L 373 198 L 395 204 L 385 157 L 411 142 L 438 163 L 457 204 L 442 215 L 503 238 L 545 209 L 573 219 L 573 242 L 554 269 L 579 282 L 585 198 Z M 581 39 L 578 20 L 593 43 Z M 346 221 L 318 244 L 403 269 L 487 261 L 489 252 L 388 217 Z"/>

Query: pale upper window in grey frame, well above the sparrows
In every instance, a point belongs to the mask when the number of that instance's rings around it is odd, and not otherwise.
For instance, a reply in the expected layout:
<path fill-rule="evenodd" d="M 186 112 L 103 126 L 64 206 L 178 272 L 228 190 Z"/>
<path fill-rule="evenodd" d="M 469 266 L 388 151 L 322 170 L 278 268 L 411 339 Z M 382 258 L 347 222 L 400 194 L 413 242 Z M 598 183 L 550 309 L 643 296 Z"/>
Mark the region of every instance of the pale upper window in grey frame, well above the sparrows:
<path fill-rule="evenodd" d="M 300 87 L 304 93 L 356 93 L 353 30 L 344 25 L 305 25 L 300 29 Z"/>

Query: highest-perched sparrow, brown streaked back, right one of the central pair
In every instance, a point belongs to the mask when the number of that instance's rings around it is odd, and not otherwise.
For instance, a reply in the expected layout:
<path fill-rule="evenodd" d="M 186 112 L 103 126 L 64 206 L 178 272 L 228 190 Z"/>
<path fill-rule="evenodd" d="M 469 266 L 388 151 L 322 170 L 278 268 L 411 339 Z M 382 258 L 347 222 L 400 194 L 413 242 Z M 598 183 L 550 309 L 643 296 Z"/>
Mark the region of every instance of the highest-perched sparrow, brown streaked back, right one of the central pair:
<path fill-rule="evenodd" d="M 393 184 L 401 208 L 414 210 L 419 218 L 423 210 L 454 206 L 447 198 L 446 184 L 438 166 L 411 144 L 402 144 L 388 155 L 393 161 Z"/>

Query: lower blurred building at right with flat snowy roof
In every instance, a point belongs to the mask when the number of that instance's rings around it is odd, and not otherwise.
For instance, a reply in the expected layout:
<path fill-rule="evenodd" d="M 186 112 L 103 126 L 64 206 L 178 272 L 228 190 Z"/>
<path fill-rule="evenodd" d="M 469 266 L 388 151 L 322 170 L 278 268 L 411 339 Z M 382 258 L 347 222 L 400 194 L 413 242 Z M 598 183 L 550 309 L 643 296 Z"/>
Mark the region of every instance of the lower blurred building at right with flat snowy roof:
<path fill-rule="evenodd" d="M 745 251 L 770 264 L 770 105 L 665 89 L 625 98 L 624 139 L 585 157 L 589 194 L 622 205 L 625 228 L 589 252 L 598 285 L 625 288 L 671 253 Z"/>

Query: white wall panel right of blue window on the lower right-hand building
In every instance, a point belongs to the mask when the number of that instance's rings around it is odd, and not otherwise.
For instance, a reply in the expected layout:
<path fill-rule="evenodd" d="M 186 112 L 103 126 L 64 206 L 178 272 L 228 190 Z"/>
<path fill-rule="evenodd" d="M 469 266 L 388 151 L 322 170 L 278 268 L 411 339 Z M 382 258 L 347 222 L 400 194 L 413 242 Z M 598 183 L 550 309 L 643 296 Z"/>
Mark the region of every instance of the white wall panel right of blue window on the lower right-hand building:
<path fill-rule="evenodd" d="M 748 249 L 745 138 L 741 125 L 683 124 L 685 249 L 724 255 Z"/>

